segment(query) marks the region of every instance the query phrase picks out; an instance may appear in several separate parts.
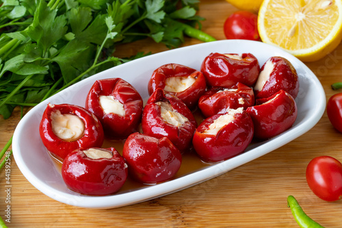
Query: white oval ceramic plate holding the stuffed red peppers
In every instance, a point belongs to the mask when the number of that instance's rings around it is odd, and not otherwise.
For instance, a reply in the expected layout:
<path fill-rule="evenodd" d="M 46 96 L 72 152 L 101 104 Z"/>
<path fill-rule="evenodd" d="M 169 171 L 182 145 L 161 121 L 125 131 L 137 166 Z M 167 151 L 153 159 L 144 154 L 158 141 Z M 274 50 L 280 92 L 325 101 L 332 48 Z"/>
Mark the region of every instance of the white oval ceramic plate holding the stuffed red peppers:
<path fill-rule="evenodd" d="M 270 140 L 251 144 L 245 153 L 229 160 L 205 166 L 205 168 L 196 170 L 194 173 L 189 173 L 155 186 L 119 192 L 118 194 L 104 197 L 81 195 L 66 187 L 60 171 L 53 164 L 39 136 L 38 127 L 47 103 L 70 103 L 84 107 L 86 95 L 94 81 L 111 77 L 122 77 L 132 84 L 140 92 L 142 98 L 146 100 L 148 98 L 147 82 L 155 68 L 163 64 L 177 63 L 200 70 L 202 60 L 211 52 L 252 53 L 257 57 L 261 66 L 268 58 L 275 55 L 287 58 L 298 71 L 300 79 L 300 92 L 296 98 L 298 118 L 293 127 Z M 189 188 L 265 155 L 311 129 L 323 115 L 325 106 L 326 97 L 319 80 L 308 67 L 293 57 L 293 55 L 277 47 L 266 45 L 263 42 L 220 40 L 149 55 L 110 68 L 66 88 L 62 92 L 36 105 L 24 116 L 14 131 L 12 148 L 16 164 L 23 175 L 33 186 L 52 199 L 78 207 L 120 207 Z"/>

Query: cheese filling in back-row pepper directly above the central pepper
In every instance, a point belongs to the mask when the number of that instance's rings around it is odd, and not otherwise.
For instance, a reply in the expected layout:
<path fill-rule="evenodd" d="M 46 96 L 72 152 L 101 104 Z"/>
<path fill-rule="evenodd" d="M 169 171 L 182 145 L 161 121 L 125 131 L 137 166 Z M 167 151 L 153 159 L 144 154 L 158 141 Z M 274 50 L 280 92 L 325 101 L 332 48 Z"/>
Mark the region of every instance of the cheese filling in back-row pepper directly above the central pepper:
<path fill-rule="evenodd" d="M 192 86 L 195 81 L 194 77 L 168 77 L 165 80 L 164 90 L 167 92 L 182 92 Z"/>

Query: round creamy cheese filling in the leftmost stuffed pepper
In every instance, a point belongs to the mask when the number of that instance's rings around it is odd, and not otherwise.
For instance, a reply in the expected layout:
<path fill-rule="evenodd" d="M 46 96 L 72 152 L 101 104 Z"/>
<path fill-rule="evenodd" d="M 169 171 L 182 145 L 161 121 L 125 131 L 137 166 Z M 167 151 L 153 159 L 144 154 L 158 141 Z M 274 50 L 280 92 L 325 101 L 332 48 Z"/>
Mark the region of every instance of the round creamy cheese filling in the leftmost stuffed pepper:
<path fill-rule="evenodd" d="M 51 114 L 53 133 L 62 140 L 75 141 L 83 136 L 84 123 L 76 115 L 61 114 L 60 110 Z"/>

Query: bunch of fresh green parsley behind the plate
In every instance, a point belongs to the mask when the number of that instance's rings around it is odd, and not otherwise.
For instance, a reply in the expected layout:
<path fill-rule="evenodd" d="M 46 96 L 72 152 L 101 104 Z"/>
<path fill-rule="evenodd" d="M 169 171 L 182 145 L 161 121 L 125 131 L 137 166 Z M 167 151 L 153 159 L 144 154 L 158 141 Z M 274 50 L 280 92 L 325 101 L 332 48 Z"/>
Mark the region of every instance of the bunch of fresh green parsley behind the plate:
<path fill-rule="evenodd" d="M 0 0 L 0 114 L 34 106 L 75 82 L 140 58 L 116 58 L 115 47 L 152 38 L 179 47 L 195 29 L 198 0 Z M 11 140 L 0 152 L 3 157 Z M 12 152 L 12 151 L 11 151 Z M 5 160 L 0 164 L 3 166 Z"/>

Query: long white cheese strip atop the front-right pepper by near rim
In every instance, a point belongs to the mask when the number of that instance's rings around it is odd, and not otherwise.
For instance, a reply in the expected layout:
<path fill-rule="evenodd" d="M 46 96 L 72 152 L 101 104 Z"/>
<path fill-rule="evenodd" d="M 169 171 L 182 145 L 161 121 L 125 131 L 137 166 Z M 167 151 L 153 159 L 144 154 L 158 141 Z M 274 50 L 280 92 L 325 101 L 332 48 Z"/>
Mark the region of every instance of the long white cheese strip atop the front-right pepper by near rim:
<path fill-rule="evenodd" d="M 227 113 L 215 119 L 209 128 L 202 132 L 202 134 L 216 136 L 218 131 L 220 131 L 224 126 L 228 125 L 235 119 L 235 114 L 244 112 L 243 107 L 239 107 L 236 110 L 228 109 Z"/>

